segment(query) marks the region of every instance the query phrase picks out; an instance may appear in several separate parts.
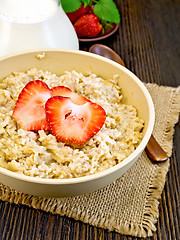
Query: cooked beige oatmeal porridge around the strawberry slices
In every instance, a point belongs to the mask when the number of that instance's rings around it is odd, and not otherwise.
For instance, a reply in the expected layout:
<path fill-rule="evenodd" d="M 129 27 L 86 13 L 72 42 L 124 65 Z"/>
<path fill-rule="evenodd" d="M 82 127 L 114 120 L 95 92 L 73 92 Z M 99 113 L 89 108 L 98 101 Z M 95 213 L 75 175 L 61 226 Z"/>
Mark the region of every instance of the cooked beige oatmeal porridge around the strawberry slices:
<path fill-rule="evenodd" d="M 40 79 L 50 88 L 63 85 L 102 106 L 106 120 L 101 130 L 82 146 L 68 146 L 50 131 L 23 130 L 12 117 L 24 86 Z M 144 121 L 137 110 L 122 104 L 118 76 L 103 80 L 76 71 L 57 76 L 31 69 L 14 72 L 0 82 L 0 166 L 32 177 L 77 178 L 115 166 L 128 157 L 142 140 Z"/>

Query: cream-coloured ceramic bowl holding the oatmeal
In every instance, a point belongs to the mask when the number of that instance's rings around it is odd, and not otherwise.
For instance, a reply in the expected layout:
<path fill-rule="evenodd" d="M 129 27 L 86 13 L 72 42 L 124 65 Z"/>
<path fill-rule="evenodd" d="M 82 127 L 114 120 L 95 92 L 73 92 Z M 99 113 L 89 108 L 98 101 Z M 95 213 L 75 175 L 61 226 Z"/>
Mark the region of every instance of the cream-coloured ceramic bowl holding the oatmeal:
<path fill-rule="evenodd" d="M 45 53 L 42 59 L 38 54 Z M 23 176 L 0 167 L 0 182 L 24 193 L 44 197 L 67 197 L 86 194 L 100 189 L 124 174 L 138 159 L 151 136 L 154 126 L 154 106 L 144 84 L 128 69 L 108 60 L 79 50 L 49 50 L 25 52 L 0 59 L 0 79 L 13 71 L 39 68 L 56 74 L 76 70 L 91 71 L 104 79 L 120 75 L 123 101 L 135 106 L 139 117 L 145 120 L 143 139 L 137 149 L 116 166 L 97 174 L 74 179 L 40 179 Z"/>

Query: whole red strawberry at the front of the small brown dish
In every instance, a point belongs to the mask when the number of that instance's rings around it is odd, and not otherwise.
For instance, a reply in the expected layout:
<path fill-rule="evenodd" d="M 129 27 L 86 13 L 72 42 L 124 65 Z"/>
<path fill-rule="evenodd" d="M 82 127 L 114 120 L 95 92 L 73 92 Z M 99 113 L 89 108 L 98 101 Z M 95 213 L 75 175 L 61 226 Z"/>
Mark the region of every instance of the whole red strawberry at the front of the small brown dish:
<path fill-rule="evenodd" d="M 85 14 L 74 23 L 78 37 L 96 37 L 102 30 L 99 18 L 94 14 Z"/>

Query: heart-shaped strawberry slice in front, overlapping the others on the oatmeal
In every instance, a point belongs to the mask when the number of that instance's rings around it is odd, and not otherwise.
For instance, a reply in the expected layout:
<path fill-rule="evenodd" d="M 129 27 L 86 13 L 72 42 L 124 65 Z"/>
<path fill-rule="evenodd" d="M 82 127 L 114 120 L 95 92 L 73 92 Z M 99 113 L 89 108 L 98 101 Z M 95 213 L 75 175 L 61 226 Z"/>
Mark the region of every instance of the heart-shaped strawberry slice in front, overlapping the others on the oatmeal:
<path fill-rule="evenodd" d="M 77 105 L 69 97 L 54 96 L 45 104 L 52 133 L 59 141 L 80 146 L 96 134 L 106 119 L 105 110 L 88 101 Z"/>

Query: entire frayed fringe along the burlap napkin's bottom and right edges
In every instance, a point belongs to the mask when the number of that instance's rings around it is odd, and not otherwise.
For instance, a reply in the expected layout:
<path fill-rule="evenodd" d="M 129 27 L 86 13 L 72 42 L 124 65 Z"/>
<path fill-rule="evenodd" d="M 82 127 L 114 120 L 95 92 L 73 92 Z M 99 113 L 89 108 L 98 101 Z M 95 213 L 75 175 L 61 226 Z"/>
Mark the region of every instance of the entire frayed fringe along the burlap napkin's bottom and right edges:
<path fill-rule="evenodd" d="M 147 88 L 148 86 L 161 88 L 156 84 L 147 84 L 146 86 Z M 169 89 L 172 91 L 173 88 L 169 87 Z M 180 87 L 176 89 L 174 88 L 173 94 L 174 97 L 171 103 L 172 106 L 169 108 L 170 111 L 167 113 L 168 121 L 165 126 L 165 130 L 163 131 L 163 142 L 166 142 L 166 145 L 163 146 L 163 148 L 169 154 L 169 157 L 172 153 L 172 141 L 174 133 L 173 127 L 178 122 L 180 111 Z M 145 204 L 143 221 L 141 225 L 128 222 L 118 223 L 116 218 L 113 216 L 109 219 L 105 219 L 103 214 L 92 216 L 90 213 L 86 211 L 82 212 L 80 209 L 71 208 L 70 210 L 63 204 L 59 205 L 58 199 L 35 197 L 28 194 L 16 192 L 11 188 L 2 185 L 0 186 L 0 200 L 15 204 L 24 204 L 29 207 L 33 207 L 53 214 L 60 214 L 61 216 L 66 215 L 67 217 L 74 218 L 75 220 L 80 220 L 84 223 L 89 223 L 90 225 L 108 229 L 110 231 L 115 230 L 125 235 L 148 237 L 152 236 L 153 231 L 156 231 L 155 224 L 159 217 L 159 199 L 165 185 L 168 168 L 169 160 L 159 165 L 156 164 L 156 170 L 152 176 L 152 182 L 146 193 L 148 195 L 148 198 Z"/>

